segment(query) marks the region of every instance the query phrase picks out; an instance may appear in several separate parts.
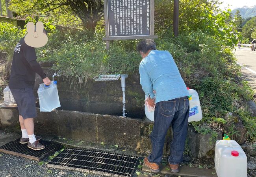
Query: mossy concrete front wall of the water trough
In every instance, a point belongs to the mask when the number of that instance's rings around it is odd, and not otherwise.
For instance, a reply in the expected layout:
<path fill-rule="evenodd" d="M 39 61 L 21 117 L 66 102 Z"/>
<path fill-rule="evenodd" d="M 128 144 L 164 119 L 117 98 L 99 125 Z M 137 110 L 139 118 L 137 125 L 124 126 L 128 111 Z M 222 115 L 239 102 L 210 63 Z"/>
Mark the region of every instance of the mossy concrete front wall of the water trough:
<path fill-rule="evenodd" d="M 20 132 L 19 112 L 16 107 L 0 107 L 0 124 L 9 131 Z M 35 133 L 42 136 L 56 136 L 82 140 L 91 143 L 104 142 L 108 145 L 117 144 L 135 150 L 139 153 L 148 153 L 151 149 L 149 135 L 153 122 L 147 119 L 123 118 L 89 112 L 54 110 L 40 112 L 37 108 L 37 117 L 34 119 Z M 169 153 L 171 128 L 166 136 L 164 153 Z"/>

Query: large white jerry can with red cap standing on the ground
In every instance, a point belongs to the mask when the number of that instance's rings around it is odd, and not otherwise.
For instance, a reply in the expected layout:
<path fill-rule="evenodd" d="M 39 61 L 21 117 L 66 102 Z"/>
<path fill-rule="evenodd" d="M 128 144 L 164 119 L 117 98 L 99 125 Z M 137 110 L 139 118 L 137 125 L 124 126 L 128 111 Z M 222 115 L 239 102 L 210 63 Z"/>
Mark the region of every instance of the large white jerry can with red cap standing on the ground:
<path fill-rule="evenodd" d="M 247 177 L 247 157 L 234 140 L 217 140 L 215 170 L 218 177 Z"/>

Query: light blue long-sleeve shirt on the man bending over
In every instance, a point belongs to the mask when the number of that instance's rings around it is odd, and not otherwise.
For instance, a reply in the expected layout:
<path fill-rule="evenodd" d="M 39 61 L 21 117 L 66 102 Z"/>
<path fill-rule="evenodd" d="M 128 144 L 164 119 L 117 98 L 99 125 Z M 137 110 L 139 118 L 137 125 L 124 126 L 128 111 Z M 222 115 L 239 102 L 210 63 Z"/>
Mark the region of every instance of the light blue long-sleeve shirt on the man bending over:
<path fill-rule="evenodd" d="M 150 98 L 156 96 L 156 103 L 189 95 L 173 56 L 168 51 L 152 50 L 141 61 L 139 74 L 143 91 Z"/>

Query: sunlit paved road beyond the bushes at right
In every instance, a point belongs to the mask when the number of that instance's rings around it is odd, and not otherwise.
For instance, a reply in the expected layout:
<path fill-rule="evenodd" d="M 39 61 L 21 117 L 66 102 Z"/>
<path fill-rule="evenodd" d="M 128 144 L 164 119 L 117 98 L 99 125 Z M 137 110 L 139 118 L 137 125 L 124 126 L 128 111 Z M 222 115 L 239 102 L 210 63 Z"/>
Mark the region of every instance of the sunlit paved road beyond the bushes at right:
<path fill-rule="evenodd" d="M 249 81 L 256 93 L 256 51 L 251 51 L 250 48 L 236 48 L 235 55 L 238 63 L 243 65 L 243 78 Z"/>

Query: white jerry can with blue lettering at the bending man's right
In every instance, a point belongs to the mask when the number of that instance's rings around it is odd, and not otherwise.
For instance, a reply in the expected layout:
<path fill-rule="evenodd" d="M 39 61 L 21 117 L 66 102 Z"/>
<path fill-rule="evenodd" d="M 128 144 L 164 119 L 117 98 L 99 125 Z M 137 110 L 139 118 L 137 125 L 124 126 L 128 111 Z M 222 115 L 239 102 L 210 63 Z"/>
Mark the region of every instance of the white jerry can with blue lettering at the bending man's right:
<path fill-rule="evenodd" d="M 197 122 L 202 120 L 202 109 L 199 96 L 196 90 L 187 88 L 189 92 L 189 118 L 188 122 Z"/>

